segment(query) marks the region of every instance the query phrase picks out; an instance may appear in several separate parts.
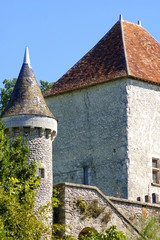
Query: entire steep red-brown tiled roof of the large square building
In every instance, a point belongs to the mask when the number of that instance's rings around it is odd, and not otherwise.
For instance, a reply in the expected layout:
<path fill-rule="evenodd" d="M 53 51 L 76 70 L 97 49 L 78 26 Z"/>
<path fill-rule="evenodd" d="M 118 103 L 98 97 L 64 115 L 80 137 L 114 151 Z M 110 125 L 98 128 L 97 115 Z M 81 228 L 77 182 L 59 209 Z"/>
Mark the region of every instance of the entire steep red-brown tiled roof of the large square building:
<path fill-rule="evenodd" d="M 125 77 L 160 84 L 160 44 L 140 24 L 121 17 L 44 96 Z"/>

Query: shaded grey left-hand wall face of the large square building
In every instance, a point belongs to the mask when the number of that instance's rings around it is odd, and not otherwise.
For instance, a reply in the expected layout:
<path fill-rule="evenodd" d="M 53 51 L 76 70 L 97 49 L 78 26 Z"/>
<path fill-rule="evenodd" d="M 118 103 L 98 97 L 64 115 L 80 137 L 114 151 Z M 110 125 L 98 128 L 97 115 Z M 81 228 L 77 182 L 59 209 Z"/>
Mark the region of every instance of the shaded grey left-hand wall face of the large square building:
<path fill-rule="evenodd" d="M 128 197 L 126 80 L 46 98 L 58 119 L 53 143 L 54 183 L 84 183 Z"/>

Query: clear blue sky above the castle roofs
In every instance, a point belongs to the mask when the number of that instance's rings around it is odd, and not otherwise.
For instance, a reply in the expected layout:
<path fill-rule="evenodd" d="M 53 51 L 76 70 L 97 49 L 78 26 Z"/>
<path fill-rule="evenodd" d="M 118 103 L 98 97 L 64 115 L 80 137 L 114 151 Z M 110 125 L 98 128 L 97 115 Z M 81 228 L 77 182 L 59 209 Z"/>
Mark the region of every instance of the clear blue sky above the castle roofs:
<path fill-rule="evenodd" d="M 18 76 L 25 46 L 37 80 L 57 81 L 120 14 L 160 43 L 160 0 L 0 0 L 0 87 Z"/>

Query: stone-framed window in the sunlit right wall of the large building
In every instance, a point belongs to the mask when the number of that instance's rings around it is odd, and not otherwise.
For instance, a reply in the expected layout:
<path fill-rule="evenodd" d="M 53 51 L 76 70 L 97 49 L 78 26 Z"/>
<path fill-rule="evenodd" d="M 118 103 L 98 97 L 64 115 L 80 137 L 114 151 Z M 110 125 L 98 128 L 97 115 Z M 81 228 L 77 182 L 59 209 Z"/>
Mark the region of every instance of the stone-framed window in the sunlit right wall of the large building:
<path fill-rule="evenodd" d="M 152 184 L 160 185 L 160 158 L 157 157 L 152 157 Z"/>

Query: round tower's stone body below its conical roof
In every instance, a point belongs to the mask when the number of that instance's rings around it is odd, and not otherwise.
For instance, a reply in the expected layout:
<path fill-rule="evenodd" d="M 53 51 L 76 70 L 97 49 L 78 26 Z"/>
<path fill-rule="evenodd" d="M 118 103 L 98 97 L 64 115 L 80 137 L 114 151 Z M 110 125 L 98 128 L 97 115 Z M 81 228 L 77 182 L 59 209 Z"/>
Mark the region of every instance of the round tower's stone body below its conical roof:
<path fill-rule="evenodd" d="M 41 176 L 36 208 L 51 202 L 53 190 L 52 141 L 57 132 L 57 121 L 37 115 L 18 115 L 2 119 L 5 132 L 13 141 L 18 136 L 28 141 L 29 162 L 35 160 Z M 37 174 L 39 174 L 37 172 Z"/>

